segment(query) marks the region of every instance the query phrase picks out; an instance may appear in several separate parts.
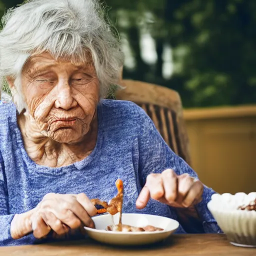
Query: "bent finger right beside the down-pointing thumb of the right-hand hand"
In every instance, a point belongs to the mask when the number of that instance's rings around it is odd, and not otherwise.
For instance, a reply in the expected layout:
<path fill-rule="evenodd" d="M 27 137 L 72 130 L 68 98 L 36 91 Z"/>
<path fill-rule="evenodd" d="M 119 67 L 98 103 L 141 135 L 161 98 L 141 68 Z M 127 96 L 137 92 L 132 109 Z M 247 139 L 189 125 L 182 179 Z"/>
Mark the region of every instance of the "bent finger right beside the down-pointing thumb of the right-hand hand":
<path fill-rule="evenodd" d="M 150 197 L 159 200 L 164 195 L 161 174 L 151 173 L 146 178 L 145 186 L 148 188 Z"/>

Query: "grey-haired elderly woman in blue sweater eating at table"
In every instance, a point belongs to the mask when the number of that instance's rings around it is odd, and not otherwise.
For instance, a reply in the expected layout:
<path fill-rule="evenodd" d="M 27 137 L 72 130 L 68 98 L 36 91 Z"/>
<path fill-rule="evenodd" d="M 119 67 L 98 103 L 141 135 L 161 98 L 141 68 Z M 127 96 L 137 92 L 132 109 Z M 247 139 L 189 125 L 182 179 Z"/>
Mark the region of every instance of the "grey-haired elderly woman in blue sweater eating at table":
<path fill-rule="evenodd" d="M 91 198 L 124 182 L 124 212 L 177 219 L 192 206 L 195 231 L 219 232 L 214 191 L 164 143 L 135 104 L 103 99 L 123 55 L 95 0 L 30 0 L 0 32 L 0 245 L 82 237 Z M 185 232 L 181 225 L 177 232 Z"/>

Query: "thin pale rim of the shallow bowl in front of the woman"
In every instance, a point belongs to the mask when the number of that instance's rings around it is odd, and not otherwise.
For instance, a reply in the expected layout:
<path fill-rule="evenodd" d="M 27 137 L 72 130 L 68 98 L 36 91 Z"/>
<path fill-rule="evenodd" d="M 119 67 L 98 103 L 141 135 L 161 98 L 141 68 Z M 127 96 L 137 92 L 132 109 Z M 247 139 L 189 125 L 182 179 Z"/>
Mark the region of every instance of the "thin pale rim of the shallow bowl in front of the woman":
<path fill-rule="evenodd" d="M 96 215 L 93 216 L 93 218 L 97 218 L 97 217 L 102 217 L 104 215 L 108 215 L 109 213 L 106 214 L 102 214 L 102 215 Z M 109 214 L 110 215 L 110 214 Z M 145 235 L 153 235 L 153 234 L 159 234 L 159 233 L 167 233 L 167 232 L 175 232 L 177 230 L 177 228 L 179 227 L 179 222 L 173 218 L 169 218 L 169 217 L 165 217 L 165 216 L 159 216 L 159 215 L 153 215 L 153 214 L 146 214 L 146 213 L 122 213 L 122 215 L 146 215 L 146 216 L 153 216 L 153 217 L 159 217 L 159 218 L 166 218 L 169 221 L 172 221 L 173 224 L 175 224 L 175 228 L 171 228 L 171 229 L 164 229 L 164 230 L 156 230 L 156 231 L 138 231 L 138 232 L 120 232 L 120 231 L 108 231 L 108 230 L 104 230 L 104 229 L 96 229 L 96 228 L 91 228 L 91 227 L 87 227 L 84 226 L 83 228 L 87 231 L 91 231 L 91 232 L 96 232 L 96 233 L 107 233 L 107 234 L 118 234 L 118 235 L 124 235 L 124 234 L 129 234 L 129 235 L 141 235 L 141 234 L 145 234 Z"/>

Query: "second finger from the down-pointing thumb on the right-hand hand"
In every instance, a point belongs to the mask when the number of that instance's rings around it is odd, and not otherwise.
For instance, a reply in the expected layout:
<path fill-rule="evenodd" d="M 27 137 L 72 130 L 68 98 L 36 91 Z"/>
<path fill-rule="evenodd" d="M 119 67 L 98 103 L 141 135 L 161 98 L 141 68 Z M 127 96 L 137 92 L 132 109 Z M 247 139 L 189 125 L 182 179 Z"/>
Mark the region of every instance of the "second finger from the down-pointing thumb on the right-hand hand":
<path fill-rule="evenodd" d="M 162 173 L 164 198 L 172 204 L 177 197 L 177 175 L 172 169 L 166 169 Z"/>

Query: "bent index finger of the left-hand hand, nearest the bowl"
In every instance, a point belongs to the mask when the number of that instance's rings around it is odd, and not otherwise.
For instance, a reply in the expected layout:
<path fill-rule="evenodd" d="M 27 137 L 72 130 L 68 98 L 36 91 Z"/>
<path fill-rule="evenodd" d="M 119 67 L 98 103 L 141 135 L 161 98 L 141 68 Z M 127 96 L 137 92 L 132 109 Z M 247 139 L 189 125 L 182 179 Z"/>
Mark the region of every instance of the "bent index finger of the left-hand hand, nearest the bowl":
<path fill-rule="evenodd" d="M 91 216 L 97 214 L 96 207 L 84 193 L 77 194 L 76 200 L 81 205 L 81 207 L 77 207 L 74 213 L 81 219 L 85 226 L 94 228 L 95 225 L 91 219 Z"/>

